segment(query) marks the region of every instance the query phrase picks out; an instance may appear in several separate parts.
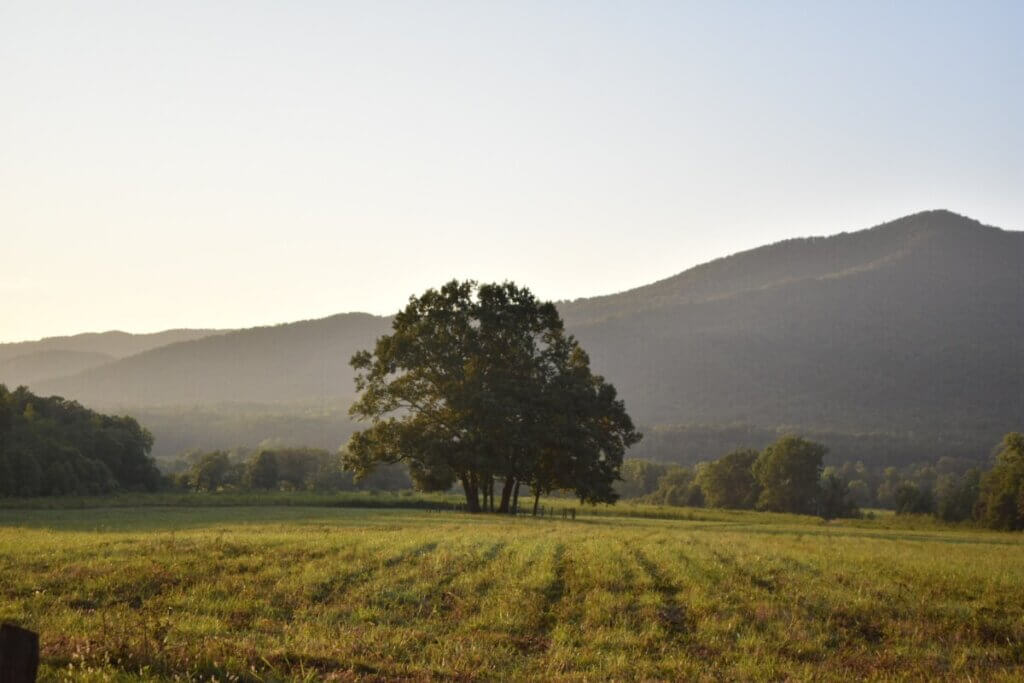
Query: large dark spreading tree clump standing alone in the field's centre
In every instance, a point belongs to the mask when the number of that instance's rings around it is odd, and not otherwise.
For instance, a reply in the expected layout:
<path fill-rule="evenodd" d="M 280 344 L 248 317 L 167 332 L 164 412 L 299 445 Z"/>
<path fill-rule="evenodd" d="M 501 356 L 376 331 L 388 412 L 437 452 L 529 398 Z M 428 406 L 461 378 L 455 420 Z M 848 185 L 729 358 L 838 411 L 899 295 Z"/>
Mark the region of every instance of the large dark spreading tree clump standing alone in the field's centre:
<path fill-rule="evenodd" d="M 613 502 L 640 439 L 615 389 L 590 371 L 555 306 L 514 284 L 451 282 L 410 299 L 373 351 L 352 356 L 371 422 L 348 443 L 357 474 L 404 462 L 418 487 L 460 481 L 471 511 L 508 511 L 519 485 Z"/>

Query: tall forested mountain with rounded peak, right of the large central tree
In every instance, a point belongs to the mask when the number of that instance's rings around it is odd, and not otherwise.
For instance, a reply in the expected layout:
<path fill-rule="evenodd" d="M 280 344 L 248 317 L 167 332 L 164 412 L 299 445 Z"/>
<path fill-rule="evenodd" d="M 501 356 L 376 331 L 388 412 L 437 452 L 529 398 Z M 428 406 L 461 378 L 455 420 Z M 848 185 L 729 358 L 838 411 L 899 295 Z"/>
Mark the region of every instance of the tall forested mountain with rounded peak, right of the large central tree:
<path fill-rule="evenodd" d="M 562 311 L 648 424 L 994 434 L 1024 418 L 1024 233 L 947 211 Z"/>

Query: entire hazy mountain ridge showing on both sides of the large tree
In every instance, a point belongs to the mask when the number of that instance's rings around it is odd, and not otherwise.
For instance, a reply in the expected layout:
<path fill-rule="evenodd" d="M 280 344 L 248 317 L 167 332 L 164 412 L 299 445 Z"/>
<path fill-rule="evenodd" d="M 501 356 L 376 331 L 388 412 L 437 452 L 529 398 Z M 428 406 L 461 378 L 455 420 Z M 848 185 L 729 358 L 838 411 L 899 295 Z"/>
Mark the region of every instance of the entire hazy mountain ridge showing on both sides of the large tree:
<path fill-rule="evenodd" d="M 787 240 L 558 305 L 652 434 L 792 427 L 870 435 L 865 449 L 902 439 L 901 454 L 927 460 L 987 453 L 1024 427 L 1024 233 L 948 211 Z M 352 428 L 327 428 L 344 421 L 353 391 L 348 358 L 389 323 L 349 313 L 178 341 L 33 388 L 148 411 L 179 445 L 189 423 L 168 417 L 175 405 L 205 412 L 208 436 L 249 403 L 264 407 L 254 439 L 279 434 L 271 425 L 290 415 L 337 439 Z"/>

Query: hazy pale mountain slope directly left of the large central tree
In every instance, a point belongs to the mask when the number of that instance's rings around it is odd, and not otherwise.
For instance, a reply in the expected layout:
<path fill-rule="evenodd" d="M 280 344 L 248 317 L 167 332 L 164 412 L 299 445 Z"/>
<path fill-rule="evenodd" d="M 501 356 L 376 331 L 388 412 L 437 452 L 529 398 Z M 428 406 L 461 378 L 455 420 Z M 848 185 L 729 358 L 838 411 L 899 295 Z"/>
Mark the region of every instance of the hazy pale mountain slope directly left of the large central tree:
<path fill-rule="evenodd" d="M 38 389 L 118 408 L 350 396 L 349 358 L 389 325 L 389 318 L 346 313 L 240 330 L 156 348 Z"/>

